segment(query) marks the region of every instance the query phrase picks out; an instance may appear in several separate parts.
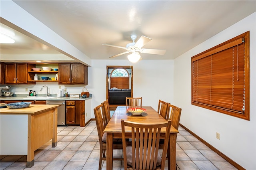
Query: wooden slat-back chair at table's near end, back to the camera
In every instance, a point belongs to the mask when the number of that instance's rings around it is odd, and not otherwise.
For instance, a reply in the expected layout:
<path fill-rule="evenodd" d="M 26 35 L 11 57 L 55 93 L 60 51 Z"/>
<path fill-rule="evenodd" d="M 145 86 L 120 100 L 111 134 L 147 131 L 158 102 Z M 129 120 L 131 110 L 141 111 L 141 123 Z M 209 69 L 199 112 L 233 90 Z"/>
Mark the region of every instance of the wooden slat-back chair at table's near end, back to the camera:
<path fill-rule="evenodd" d="M 136 123 L 121 120 L 122 141 L 124 153 L 124 169 L 128 166 L 136 170 L 152 170 L 161 168 L 164 170 L 167 147 L 170 134 L 170 121 L 166 123 Z M 132 144 L 127 144 L 126 127 L 132 128 Z M 166 127 L 164 148 L 161 154 L 158 152 L 161 128 Z"/>

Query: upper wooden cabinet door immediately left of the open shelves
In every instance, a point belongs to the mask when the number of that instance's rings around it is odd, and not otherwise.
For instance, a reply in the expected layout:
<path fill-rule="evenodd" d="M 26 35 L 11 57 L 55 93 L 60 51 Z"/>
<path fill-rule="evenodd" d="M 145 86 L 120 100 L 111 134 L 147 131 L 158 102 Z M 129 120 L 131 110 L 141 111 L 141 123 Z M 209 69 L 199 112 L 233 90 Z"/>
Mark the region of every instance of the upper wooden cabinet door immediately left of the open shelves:
<path fill-rule="evenodd" d="M 27 63 L 16 63 L 16 75 L 17 84 L 28 83 Z"/>

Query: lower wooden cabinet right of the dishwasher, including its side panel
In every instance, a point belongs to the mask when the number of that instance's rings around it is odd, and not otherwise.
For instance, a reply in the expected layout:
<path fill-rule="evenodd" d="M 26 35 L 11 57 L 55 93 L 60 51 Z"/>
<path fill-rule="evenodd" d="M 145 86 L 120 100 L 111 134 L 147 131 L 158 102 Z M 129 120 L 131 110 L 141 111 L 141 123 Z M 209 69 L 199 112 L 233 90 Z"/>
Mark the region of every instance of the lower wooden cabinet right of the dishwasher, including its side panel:
<path fill-rule="evenodd" d="M 66 101 L 66 125 L 85 126 L 85 101 Z"/>

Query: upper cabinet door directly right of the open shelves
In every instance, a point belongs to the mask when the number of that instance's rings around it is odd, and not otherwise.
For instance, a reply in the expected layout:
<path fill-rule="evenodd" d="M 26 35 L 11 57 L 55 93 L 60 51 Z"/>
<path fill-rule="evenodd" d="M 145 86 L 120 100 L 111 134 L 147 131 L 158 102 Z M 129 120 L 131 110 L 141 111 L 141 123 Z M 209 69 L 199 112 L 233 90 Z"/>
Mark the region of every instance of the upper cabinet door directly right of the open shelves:
<path fill-rule="evenodd" d="M 70 66 L 70 63 L 59 63 L 59 84 L 71 84 Z"/>

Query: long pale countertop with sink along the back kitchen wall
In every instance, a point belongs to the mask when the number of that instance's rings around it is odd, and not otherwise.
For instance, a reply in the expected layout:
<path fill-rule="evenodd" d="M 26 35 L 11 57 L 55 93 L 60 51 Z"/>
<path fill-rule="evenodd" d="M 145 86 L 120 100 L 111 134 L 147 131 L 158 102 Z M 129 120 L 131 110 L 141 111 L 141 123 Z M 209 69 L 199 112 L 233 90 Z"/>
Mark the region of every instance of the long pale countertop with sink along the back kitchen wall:
<path fill-rule="evenodd" d="M 41 96 L 39 96 L 41 97 Z M 42 96 L 43 97 L 43 96 Z M 26 98 L 26 99 L 24 99 Z M 54 98 L 50 98 L 50 99 L 43 99 L 43 98 L 34 98 L 34 97 L 30 97 L 29 99 L 27 98 L 27 96 L 24 97 L 0 97 L 0 100 L 6 100 L 6 101 L 11 101 L 11 100 L 17 100 L 17 101 L 31 101 L 31 100 L 52 100 L 52 101 L 56 101 L 56 100 L 88 100 L 88 99 L 92 99 L 92 95 L 90 95 L 90 97 L 87 98 L 82 98 L 82 97 L 54 97 Z"/>

